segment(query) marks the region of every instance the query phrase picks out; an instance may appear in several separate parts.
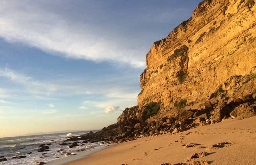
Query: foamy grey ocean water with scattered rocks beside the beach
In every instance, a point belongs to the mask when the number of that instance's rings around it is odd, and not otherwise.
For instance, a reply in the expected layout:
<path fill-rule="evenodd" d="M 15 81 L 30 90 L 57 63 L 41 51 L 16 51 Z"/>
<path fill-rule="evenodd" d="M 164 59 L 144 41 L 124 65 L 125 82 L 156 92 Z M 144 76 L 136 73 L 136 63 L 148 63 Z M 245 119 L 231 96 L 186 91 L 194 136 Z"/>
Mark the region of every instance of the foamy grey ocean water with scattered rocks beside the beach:
<path fill-rule="evenodd" d="M 82 145 L 83 140 L 68 141 L 67 143 L 78 143 L 79 146 L 73 148 L 69 148 L 71 144 L 60 145 L 60 143 L 63 143 L 72 136 L 86 133 L 89 133 L 89 131 L 0 138 L 0 160 L 4 158 L 7 159 L 7 161 L 0 161 L 0 165 L 30 165 L 38 164 L 39 162 L 47 163 L 52 160 L 88 152 L 94 148 L 103 148 L 107 145 L 102 144 L 102 142 L 84 143 Z M 38 152 L 40 144 L 49 146 L 49 151 Z M 31 154 L 29 154 L 30 152 Z M 12 159 L 13 157 L 19 156 L 25 156 L 25 158 Z"/>

